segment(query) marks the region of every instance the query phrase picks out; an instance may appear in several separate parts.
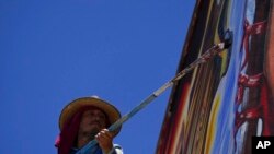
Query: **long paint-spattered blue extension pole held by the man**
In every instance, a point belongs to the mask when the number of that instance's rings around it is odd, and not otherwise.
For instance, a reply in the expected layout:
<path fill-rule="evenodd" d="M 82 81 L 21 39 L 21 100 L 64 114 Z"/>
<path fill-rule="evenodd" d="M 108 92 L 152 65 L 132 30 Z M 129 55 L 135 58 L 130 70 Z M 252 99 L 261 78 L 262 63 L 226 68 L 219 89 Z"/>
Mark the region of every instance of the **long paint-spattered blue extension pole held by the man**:
<path fill-rule="evenodd" d="M 172 86 L 176 81 L 181 80 L 185 74 L 187 74 L 190 71 L 192 71 L 194 68 L 196 68 L 201 63 L 207 62 L 209 59 L 212 59 L 216 54 L 220 52 L 222 49 L 227 48 L 226 43 L 219 43 L 217 45 L 214 45 L 212 48 L 207 49 L 203 55 L 201 55 L 194 62 L 192 62 L 190 66 L 187 66 L 184 70 L 179 72 L 172 80 L 168 81 L 165 84 L 163 84 L 160 88 L 155 91 L 151 95 L 149 95 L 145 100 L 142 100 L 138 106 L 136 106 L 130 112 L 124 115 L 121 119 L 118 119 L 116 122 L 114 122 L 110 128 L 109 131 L 114 131 L 118 127 L 122 126 L 125 121 L 127 121 L 129 118 L 132 118 L 135 114 L 140 111 L 142 108 L 145 108 L 148 104 L 150 104 L 155 98 L 157 98 L 159 95 L 161 95 L 168 87 Z M 83 154 L 85 150 L 96 144 L 98 141 L 94 139 L 90 141 L 87 145 L 84 145 L 82 149 L 80 149 L 76 154 Z"/>

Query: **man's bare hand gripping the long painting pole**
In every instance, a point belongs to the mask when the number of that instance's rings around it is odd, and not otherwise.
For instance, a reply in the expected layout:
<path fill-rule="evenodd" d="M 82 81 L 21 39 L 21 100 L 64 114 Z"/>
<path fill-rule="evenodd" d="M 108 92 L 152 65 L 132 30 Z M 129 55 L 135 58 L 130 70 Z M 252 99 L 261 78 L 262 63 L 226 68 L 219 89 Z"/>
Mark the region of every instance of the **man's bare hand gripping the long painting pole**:
<path fill-rule="evenodd" d="M 111 152 L 113 149 L 113 133 L 111 133 L 107 129 L 102 129 L 96 135 L 95 139 L 99 143 L 99 146 L 102 149 L 104 153 Z"/>

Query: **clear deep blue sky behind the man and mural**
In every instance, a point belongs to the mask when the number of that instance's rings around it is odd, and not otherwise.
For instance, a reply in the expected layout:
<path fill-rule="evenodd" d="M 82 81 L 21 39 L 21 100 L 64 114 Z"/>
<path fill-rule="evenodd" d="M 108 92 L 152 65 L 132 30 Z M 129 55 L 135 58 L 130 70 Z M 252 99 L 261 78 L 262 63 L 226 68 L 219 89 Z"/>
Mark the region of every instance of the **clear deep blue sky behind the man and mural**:
<path fill-rule="evenodd" d="M 127 114 L 176 71 L 195 0 L 0 0 L 1 154 L 55 154 L 65 105 L 98 95 Z M 124 126 L 155 153 L 170 90 Z"/>

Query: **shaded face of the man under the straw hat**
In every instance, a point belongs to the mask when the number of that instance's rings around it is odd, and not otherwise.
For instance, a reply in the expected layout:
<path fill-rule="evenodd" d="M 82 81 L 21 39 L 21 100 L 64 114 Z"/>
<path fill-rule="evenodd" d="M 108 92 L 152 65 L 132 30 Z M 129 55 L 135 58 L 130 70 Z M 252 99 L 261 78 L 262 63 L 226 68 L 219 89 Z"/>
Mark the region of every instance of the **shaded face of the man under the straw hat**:
<path fill-rule="evenodd" d="M 85 110 L 82 115 L 79 131 L 85 133 L 98 133 L 106 127 L 106 116 L 100 109 Z"/>

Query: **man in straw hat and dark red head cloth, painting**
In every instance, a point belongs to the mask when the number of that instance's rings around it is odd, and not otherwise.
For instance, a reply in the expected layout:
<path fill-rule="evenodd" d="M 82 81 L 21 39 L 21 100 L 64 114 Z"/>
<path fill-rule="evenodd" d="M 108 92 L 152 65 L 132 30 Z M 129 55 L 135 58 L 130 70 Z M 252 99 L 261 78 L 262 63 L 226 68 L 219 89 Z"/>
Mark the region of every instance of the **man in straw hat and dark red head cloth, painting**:
<path fill-rule="evenodd" d="M 119 118 L 121 114 L 113 105 L 96 96 L 71 102 L 59 117 L 58 154 L 76 154 L 93 139 L 98 144 L 85 150 L 84 154 L 123 154 L 122 147 L 113 144 L 121 127 L 114 132 L 106 129 Z"/>

